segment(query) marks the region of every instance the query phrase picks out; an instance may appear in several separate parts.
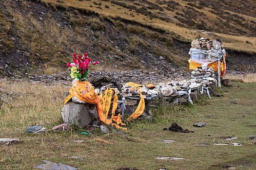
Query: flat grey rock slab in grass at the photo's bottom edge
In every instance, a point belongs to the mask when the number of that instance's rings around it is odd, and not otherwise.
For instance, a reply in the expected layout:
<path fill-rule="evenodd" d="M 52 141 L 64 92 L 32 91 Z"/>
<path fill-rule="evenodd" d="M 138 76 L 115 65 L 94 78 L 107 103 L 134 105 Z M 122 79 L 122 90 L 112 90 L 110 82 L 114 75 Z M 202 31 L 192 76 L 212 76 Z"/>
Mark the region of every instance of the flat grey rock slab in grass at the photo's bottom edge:
<path fill-rule="evenodd" d="M 34 168 L 43 169 L 43 170 L 78 170 L 78 168 L 71 167 L 62 163 L 54 163 L 51 161 L 43 161 L 44 164 L 40 164 Z"/>

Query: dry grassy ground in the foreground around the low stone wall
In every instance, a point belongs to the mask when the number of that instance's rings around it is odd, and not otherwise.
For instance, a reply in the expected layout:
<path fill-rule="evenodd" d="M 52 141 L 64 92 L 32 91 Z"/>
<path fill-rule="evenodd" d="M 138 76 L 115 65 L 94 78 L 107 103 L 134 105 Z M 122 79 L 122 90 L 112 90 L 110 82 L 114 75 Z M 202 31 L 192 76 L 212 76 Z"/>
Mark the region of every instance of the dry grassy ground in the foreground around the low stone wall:
<path fill-rule="evenodd" d="M 255 132 L 253 126 L 248 126 L 255 124 L 255 83 L 242 83 L 239 88 L 237 85 L 235 83 L 231 87 L 217 89 L 217 93 L 223 94 L 223 97 L 203 98 L 195 102 L 194 106 L 159 107 L 154 110 L 153 122 L 130 122 L 128 131 L 123 131 L 128 136 L 129 140 L 126 140 L 123 136 L 114 135 L 114 129 L 110 127 L 111 133 L 106 135 L 100 133 L 99 129 L 90 135 L 80 135 L 81 130 L 75 128 L 66 132 L 51 132 L 50 129 L 54 125 L 62 122 L 60 111 L 63 106 L 63 92 L 69 90 L 69 86 L 2 80 L 0 88 L 14 94 L 4 97 L 6 102 L 0 107 L 0 135 L 1 138 L 17 137 L 21 142 L 0 147 L 0 169 L 32 170 L 41 164 L 42 160 L 49 160 L 80 170 L 216 170 L 227 167 L 253 170 L 255 145 L 247 140 L 247 137 Z M 231 103 L 233 98 L 239 100 L 235 101 L 237 104 Z M 214 113 L 209 108 L 214 108 Z M 195 133 L 183 134 L 162 130 L 172 122 L 177 122 Z M 193 127 L 196 122 L 207 124 L 202 128 Z M 37 124 L 43 125 L 47 132 L 22 133 L 28 126 Z M 224 140 L 231 136 L 237 139 Z M 160 142 L 167 139 L 176 142 Z M 77 143 L 73 140 L 83 142 Z M 232 142 L 241 143 L 242 146 L 232 146 Z M 209 145 L 202 146 L 201 143 Z M 214 143 L 228 145 L 215 146 Z M 79 156 L 83 160 L 69 156 Z M 157 156 L 185 159 L 154 159 Z"/>

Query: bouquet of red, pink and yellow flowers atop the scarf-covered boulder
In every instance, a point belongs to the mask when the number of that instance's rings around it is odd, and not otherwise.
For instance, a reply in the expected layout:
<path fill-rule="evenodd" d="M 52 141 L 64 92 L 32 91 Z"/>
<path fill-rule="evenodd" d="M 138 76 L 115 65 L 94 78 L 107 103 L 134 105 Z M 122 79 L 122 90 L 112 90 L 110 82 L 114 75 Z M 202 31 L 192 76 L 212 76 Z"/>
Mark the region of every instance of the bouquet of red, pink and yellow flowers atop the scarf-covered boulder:
<path fill-rule="evenodd" d="M 81 57 L 80 55 L 77 56 L 76 53 L 73 54 L 73 62 L 74 63 L 67 63 L 67 66 L 71 69 L 71 72 L 69 73 L 74 84 L 75 82 L 83 82 L 87 78 L 88 70 L 89 70 L 89 63 L 91 62 L 91 59 L 88 58 L 87 53 L 84 53 L 84 57 Z M 98 61 L 93 62 L 93 65 L 97 65 Z"/>

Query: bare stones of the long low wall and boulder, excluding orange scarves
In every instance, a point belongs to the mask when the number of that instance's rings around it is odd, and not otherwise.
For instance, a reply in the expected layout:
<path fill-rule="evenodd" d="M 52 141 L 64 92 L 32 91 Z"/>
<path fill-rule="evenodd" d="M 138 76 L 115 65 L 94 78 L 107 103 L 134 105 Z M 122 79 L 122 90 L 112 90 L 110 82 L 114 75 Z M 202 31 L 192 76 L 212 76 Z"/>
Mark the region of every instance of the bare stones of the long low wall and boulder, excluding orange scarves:
<path fill-rule="evenodd" d="M 198 69 L 194 71 L 196 71 L 198 75 L 205 75 L 206 72 L 210 72 L 211 75 L 208 77 L 197 76 L 190 80 L 183 80 L 180 82 L 172 81 L 159 83 L 159 85 L 155 85 L 151 88 L 143 85 L 140 90 L 145 100 L 145 109 L 138 119 L 151 121 L 153 117 L 151 111 L 152 108 L 157 108 L 159 105 L 162 105 L 163 107 L 172 107 L 186 102 L 192 103 L 192 100 L 196 101 L 198 99 L 198 95 L 205 95 L 207 90 L 211 91 L 215 89 L 216 79 L 212 68 L 208 68 L 207 70 Z M 91 84 L 95 87 L 95 92 L 98 95 L 109 87 L 116 89 L 118 108 L 115 112 L 115 116 L 120 114 L 121 119 L 124 119 L 137 109 L 140 96 L 138 89 L 130 90 L 133 86 L 118 84 L 109 76 L 97 78 L 93 80 Z M 114 94 L 113 91 L 108 117 L 110 117 L 112 113 L 111 109 Z M 68 96 L 68 92 L 65 93 L 65 97 L 66 96 Z M 64 105 L 61 116 L 64 123 L 67 123 L 68 125 L 76 124 L 80 129 L 86 127 L 98 127 L 98 125 L 100 125 L 96 105 L 82 102 L 76 97 L 73 97 Z"/>

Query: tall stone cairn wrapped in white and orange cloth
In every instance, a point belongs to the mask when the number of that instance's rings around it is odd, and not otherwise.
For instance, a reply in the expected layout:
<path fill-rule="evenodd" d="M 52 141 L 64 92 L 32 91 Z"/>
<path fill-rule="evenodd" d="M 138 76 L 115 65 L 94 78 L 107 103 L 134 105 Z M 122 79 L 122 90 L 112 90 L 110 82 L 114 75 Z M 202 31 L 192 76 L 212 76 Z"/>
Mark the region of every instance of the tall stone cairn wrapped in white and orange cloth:
<path fill-rule="evenodd" d="M 210 40 L 200 38 L 193 40 L 189 51 L 189 68 L 195 70 L 197 68 L 207 70 L 213 68 L 218 75 L 218 86 L 220 87 L 220 77 L 224 76 L 226 70 L 226 51 L 220 39 Z M 209 77 L 204 75 L 203 77 Z"/>

